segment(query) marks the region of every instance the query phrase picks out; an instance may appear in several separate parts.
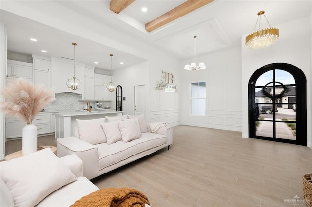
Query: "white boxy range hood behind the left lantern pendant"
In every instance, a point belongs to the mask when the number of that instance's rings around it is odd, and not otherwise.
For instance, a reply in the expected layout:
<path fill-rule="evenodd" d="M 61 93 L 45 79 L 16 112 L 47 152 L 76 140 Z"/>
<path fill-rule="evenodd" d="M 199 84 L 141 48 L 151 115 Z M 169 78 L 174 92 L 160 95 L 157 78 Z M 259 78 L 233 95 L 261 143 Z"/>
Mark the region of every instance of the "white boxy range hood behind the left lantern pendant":
<path fill-rule="evenodd" d="M 75 77 L 82 83 L 77 90 L 72 90 L 66 85 L 68 79 L 74 76 L 74 61 L 51 58 L 51 87 L 55 93 L 73 92 L 84 95 L 84 69 L 85 64 L 75 62 Z"/>

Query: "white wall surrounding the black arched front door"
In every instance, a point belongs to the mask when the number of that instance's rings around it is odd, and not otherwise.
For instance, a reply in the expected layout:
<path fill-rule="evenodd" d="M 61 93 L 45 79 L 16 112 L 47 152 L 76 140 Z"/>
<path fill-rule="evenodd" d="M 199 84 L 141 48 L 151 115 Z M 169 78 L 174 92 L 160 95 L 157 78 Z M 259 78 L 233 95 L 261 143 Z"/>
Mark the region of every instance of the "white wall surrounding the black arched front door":
<path fill-rule="evenodd" d="M 242 137 L 248 138 L 248 81 L 255 70 L 270 63 L 289 63 L 301 69 L 307 78 L 307 134 L 308 146 L 311 134 L 311 19 L 301 18 L 282 25 L 279 38 L 270 47 L 253 50 L 245 46 L 242 35 Z"/>

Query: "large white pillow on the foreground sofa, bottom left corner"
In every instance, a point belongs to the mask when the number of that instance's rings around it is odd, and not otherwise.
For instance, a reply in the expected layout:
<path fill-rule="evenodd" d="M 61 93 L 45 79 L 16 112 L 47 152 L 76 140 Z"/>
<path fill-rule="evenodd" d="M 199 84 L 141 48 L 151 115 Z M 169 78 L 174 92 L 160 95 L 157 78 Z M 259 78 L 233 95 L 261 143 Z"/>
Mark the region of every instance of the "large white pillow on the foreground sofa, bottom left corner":
<path fill-rule="evenodd" d="M 76 180 L 70 168 L 50 148 L 0 162 L 0 169 L 15 207 L 33 207 L 53 191 Z"/>

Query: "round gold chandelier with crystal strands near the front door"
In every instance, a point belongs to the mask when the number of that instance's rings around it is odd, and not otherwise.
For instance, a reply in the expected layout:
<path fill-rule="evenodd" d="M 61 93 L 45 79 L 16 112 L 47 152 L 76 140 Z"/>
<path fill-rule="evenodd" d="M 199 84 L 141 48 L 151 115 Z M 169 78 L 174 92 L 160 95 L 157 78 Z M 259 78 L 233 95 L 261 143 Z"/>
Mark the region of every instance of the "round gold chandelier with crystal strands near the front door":
<path fill-rule="evenodd" d="M 261 16 L 264 16 L 269 28 L 261 29 L 262 19 Z M 259 30 L 255 31 L 257 24 L 259 22 Z M 246 36 L 246 45 L 253 49 L 265 48 L 272 45 L 279 37 L 279 30 L 275 27 L 271 27 L 267 17 L 264 15 L 264 11 L 258 12 L 257 22 L 254 27 L 254 32 Z"/>

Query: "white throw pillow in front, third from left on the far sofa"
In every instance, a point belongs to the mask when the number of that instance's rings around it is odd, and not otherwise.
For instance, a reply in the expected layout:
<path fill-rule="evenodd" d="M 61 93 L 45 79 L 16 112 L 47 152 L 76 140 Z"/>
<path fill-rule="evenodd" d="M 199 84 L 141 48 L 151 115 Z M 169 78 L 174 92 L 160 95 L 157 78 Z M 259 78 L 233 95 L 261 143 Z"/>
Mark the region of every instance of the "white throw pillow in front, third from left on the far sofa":
<path fill-rule="evenodd" d="M 125 119 L 125 121 L 120 121 L 118 125 L 123 142 L 126 143 L 128 141 L 141 138 L 138 120 L 136 121 L 136 119 Z"/>

